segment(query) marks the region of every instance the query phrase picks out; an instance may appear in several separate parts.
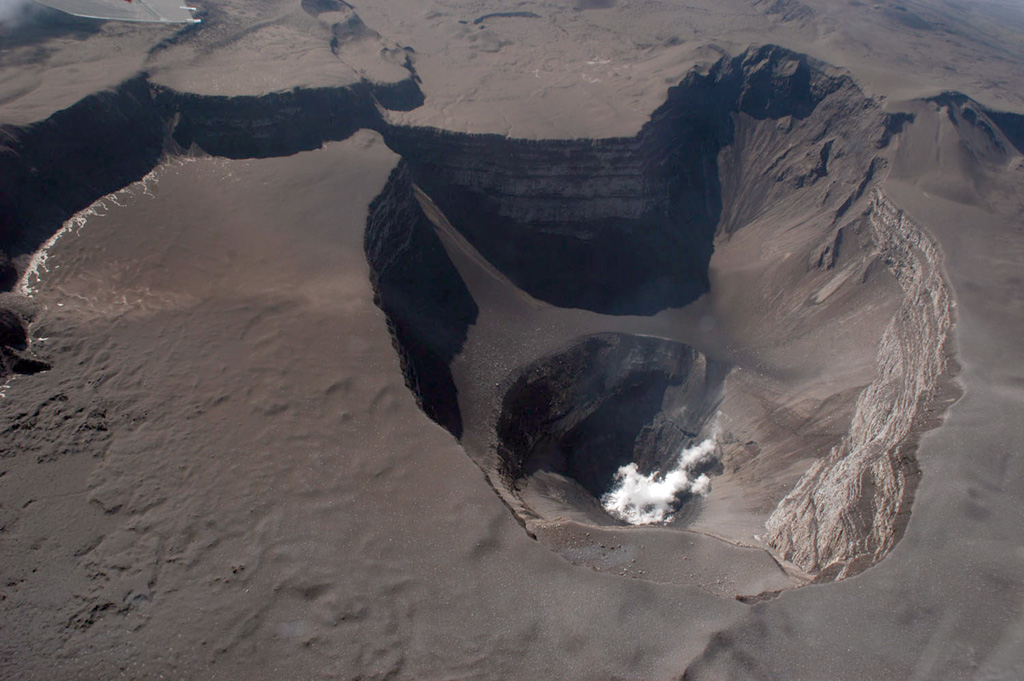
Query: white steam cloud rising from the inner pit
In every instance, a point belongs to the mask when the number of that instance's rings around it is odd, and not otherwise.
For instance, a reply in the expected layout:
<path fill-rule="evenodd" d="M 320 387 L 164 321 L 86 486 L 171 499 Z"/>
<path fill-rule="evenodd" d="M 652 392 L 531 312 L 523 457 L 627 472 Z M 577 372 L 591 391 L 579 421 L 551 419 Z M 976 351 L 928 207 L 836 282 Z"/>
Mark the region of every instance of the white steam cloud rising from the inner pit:
<path fill-rule="evenodd" d="M 635 463 L 615 473 L 611 492 L 601 497 L 604 510 L 631 525 L 649 525 L 671 519 L 676 499 L 689 493 L 701 497 L 711 492 L 711 478 L 693 473 L 715 453 L 715 437 L 709 437 L 679 454 L 675 468 L 664 475 L 642 475 Z"/>

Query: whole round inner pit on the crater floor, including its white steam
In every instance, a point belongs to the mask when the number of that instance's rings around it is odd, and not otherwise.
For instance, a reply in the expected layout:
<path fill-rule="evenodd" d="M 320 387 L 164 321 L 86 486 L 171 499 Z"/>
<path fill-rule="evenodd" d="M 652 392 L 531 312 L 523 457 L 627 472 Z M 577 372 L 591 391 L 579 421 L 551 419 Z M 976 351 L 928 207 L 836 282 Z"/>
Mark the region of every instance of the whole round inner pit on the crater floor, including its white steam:
<path fill-rule="evenodd" d="M 583 338 L 509 379 L 500 479 L 530 516 L 682 522 L 721 468 L 714 414 L 726 371 L 682 343 Z"/>

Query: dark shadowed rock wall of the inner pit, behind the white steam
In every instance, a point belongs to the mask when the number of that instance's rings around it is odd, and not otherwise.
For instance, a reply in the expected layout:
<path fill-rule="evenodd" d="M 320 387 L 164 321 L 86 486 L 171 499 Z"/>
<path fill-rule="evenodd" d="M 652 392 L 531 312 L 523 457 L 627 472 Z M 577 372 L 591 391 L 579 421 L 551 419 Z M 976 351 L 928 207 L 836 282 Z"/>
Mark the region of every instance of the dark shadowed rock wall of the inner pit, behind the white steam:
<path fill-rule="evenodd" d="M 497 425 L 504 477 L 558 473 L 600 499 L 621 466 L 664 471 L 705 430 L 724 375 L 681 343 L 585 338 L 510 378 Z"/>

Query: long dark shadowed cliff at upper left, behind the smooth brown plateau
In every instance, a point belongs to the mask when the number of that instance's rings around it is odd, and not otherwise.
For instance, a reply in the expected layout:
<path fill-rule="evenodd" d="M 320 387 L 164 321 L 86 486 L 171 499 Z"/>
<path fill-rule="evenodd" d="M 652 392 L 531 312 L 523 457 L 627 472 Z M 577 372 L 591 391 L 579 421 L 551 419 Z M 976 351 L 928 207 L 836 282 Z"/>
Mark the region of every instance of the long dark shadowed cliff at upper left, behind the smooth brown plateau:
<path fill-rule="evenodd" d="M 151 85 L 144 75 L 39 123 L 0 129 L 0 248 L 35 250 L 76 212 L 140 179 L 165 152 L 228 158 L 288 156 L 381 129 L 379 108 L 423 103 L 419 85 L 356 83 L 252 97 L 205 96 Z"/>

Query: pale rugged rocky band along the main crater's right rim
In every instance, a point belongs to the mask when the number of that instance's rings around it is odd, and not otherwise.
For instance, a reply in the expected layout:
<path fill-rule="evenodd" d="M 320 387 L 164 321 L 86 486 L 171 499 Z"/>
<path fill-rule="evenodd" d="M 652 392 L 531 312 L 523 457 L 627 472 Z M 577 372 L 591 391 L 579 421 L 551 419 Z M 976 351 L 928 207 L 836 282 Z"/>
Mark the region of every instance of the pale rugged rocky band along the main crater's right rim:
<path fill-rule="evenodd" d="M 914 428 L 950 396 L 943 384 L 954 305 L 941 253 L 881 189 L 868 216 L 903 300 L 882 337 L 878 377 L 857 399 L 849 432 L 779 503 L 765 536 L 786 560 L 825 579 L 855 574 L 892 549 L 921 474 Z"/>

